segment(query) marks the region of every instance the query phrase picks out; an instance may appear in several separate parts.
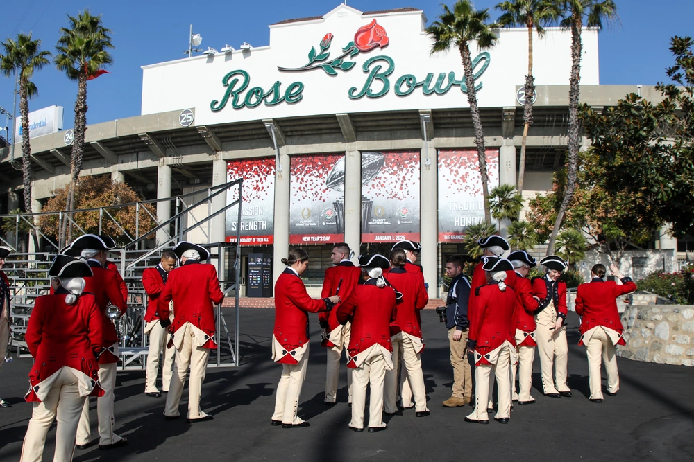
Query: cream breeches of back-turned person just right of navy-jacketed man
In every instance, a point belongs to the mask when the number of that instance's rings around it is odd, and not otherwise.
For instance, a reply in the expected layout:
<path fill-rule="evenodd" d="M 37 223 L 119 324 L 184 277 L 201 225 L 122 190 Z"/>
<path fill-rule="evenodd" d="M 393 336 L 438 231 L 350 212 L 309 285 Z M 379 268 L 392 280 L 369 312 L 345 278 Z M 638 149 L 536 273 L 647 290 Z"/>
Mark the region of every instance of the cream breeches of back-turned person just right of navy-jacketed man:
<path fill-rule="evenodd" d="M 495 365 L 484 364 L 475 366 L 475 409 L 468 418 L 489 420 L 486 409 L 488 408 L 489 395 L 491 394 L 491 389 L 489 389 L 490 375 L 496 377 L 498 389 L 496 418 L 511 416 L 511 350 L 508 344 L 501 348 Z"/>

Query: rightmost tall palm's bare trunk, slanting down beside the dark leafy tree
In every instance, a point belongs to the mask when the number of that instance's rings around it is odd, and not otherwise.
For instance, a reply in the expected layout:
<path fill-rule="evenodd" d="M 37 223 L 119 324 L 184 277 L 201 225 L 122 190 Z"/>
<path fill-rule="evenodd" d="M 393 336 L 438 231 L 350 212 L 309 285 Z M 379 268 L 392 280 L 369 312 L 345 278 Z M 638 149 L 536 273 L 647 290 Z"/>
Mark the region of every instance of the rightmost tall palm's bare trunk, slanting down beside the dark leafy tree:
<path fill-rule="evenodd" d="M 547 254 L 554 253 L 557 235 L 561 227 L 561 221 L 564 220 L 564 214 L 576 189 L 576 177 L 578 173 L 578 149 L 579 149 L 579 123 L 578 123 L 578 98 L 579 98 L 579 83 L 581 82 L 581 54 L 583 44 L 581 41 L 581 32 L 583 28 L 582 16 L 577 12 L 572 13 L 571 21 L 571 77 L 569 80 L 568 91 L 568 163 L 566 166 L 566 190 L 564 191 L 564 200 L 561 201 L 559 212 L 557 212 L 557 220 L 555 227 L 550 235 L 550 242 L 547 247 Z"/>

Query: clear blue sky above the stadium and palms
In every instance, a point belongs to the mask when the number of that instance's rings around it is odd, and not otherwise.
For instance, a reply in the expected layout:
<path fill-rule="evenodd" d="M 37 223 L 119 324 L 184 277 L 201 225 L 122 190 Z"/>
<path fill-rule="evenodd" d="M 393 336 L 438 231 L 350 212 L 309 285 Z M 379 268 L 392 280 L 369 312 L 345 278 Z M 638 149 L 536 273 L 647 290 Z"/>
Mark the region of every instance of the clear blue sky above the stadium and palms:
<path fill-rule="evenodd" d="M 666 80 L 665 68 L 672 63 L 668 50 L 672 35 L 694 33 L 694 1 L 616 0 L 620 24 L 600 34 L 600 82 L 620 85 L 654 85 Z M 176 60 L 187 49 L 189 24 L 203 36 L 202 47 L 238 48 L 242 42 L 267 45 L 268 24 L 283 19 L 320 16 L 339 5 L 335 0 L 265 1 L 74 1 L 26 0 L 3 6 L 0 39 L 32 32 L 42 40 L 43 49 L 55 51 L 59 29 L 67 26 L 67 14 L 90 8 L 103 15 L 103 23 L 113 31 L 114 64 L 111 74 L 90 82 L 87 90 L 87 123 L 111 121 L 139 115 L 142 69 L 140 66 Z M 452 0 L 446 3 L 452 4 Z M 477 0 L 476 8 L 493 8 L 498 0 Z M 441 12 L 437 0 L 348 0 L 357 10 L 387 10 L 413 6 L 424 10 L 434 21 Z M 496 19 L 498 12 L 492 10 Z M 567 50 L 568 53 L 568 50 Z M 568 76 L 567 76 L 568 80 Z M 35 74 L 39 96 L 29 109 L 49 105 L 65 107 L 65 129 L 73 127 L 76 83 L 52 64 Z M 0 106 L 12 112 L 14 81 L 0 77 Z M 19 112 L 19 109 L 17 109 Z M 5 117 L 0 116 L 0 126 Z M 5 136 L 5 133 L 2 132 Z"/>

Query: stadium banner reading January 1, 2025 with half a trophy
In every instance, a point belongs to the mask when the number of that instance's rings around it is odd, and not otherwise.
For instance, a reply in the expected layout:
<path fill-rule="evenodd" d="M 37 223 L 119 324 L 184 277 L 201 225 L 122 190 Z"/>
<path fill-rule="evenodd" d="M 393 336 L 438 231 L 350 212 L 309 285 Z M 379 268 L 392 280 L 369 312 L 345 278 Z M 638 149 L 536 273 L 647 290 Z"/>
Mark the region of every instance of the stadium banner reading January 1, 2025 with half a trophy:
<path fill-rule="evenodd" d="M 419 157 L 362 152 L 362 242 L 419 240 Z"/>

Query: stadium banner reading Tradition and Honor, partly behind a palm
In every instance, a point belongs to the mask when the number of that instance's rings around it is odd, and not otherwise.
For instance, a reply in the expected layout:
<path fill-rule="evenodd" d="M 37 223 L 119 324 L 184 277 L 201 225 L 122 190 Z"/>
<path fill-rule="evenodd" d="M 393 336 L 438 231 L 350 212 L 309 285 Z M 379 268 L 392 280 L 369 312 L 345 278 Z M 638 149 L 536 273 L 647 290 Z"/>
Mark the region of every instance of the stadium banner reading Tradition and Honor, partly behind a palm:
<path fill-rule="evenodd" d="M 499 151 L 486 150 L 489 190 L 499 186 Z M 462 242 L 465 229 L 484 222 L 477 150 L 439 150 L 439 242 Z"/>

